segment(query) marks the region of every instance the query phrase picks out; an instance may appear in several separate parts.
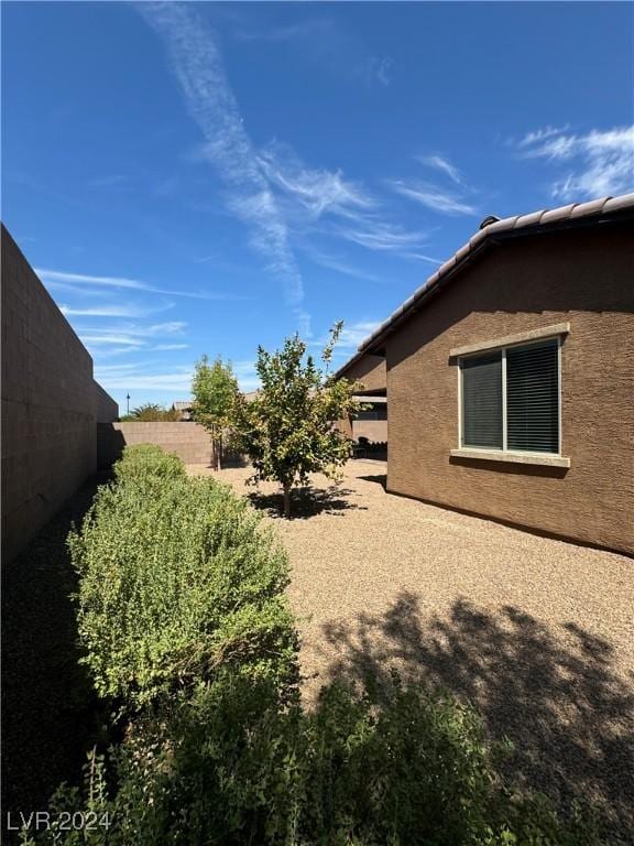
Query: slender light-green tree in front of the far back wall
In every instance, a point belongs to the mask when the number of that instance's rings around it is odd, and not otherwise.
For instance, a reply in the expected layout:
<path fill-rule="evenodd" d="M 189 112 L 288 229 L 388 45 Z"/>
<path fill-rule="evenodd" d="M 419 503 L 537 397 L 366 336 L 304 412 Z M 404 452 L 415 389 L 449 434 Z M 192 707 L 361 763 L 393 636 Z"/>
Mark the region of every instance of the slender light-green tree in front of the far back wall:
<path fill-rule="evenodd" d="M 222 431 L 231 422 L 231 411 L 238 397 L 238 381 L 230 361 L 219 356 L 212 365 L 207 356 L 196 362 L 192 382 L 194 405 L 192 416 L 211 435 L 212 465 L 220 469 Z"/>

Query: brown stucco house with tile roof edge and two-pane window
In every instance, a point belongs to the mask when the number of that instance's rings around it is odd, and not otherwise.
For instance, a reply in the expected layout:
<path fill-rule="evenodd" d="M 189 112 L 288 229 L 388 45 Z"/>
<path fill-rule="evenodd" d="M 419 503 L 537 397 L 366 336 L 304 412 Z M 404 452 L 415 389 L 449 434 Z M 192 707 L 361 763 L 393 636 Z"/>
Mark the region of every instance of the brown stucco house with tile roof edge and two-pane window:
<path fill-rule="evenodd" d="M 634 194 L 487 218 L 368 356 L 389 491 L 634 554 Z"/>

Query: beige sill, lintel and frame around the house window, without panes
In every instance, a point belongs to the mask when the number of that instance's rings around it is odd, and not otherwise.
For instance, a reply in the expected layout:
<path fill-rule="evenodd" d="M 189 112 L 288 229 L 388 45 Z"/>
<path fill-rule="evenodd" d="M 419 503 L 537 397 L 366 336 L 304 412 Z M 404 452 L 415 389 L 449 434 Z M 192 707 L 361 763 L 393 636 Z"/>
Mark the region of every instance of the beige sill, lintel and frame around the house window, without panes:
<path fill-rule="evenodd" d="M 494 341 L 457 347 L 450 350 L 450 358 L 458 359 L 458 448 L 451 449 L 455 458 L 471 458 L 488 462 L 507 462 L 512 464 L 532 464 L 546 467 L 570 467 L 570 458 L 561 455 L 561 341 L 570 332 L 569 323 L 545 326 L 516 335 L 509 335 Z M 507 449 L 506 447 L 506 349 L 515 346 L 532 346 L 544 340 L 557 340 L 557 386 L 558 386 L 558 453 L 529 453 Z M 503 341 L 503 343 L 502 343 Z M 462 408 L 462 359 L 482 352 L 502 352 L 502 448 L 491 449 L 477 446 L 462 446 L 463 408 Z"/>

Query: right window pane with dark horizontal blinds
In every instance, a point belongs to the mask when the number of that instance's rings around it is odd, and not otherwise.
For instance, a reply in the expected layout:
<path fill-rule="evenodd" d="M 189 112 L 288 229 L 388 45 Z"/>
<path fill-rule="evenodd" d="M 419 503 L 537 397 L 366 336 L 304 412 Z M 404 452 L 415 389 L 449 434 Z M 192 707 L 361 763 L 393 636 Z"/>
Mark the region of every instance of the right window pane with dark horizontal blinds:
<path fill-rule="evenodd" d="M 506 350 L 506 448 L 559 452 L 556 340 Z"/>

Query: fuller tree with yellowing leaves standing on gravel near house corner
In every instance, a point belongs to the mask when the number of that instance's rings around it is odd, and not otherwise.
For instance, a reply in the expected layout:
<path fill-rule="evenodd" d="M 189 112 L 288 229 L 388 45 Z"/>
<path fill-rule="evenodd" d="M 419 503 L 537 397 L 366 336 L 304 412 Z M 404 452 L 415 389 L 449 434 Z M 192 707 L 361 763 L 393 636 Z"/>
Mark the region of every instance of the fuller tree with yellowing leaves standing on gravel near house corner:
<path fill-rule="evenodd" d="M 255 468 L 254 480 L 278 481 L 284 491 L 284 516 L 291 514 L 291 491 L 306 485 L 310 473 L 337 478 L 337 468 L 350 456 L 351 442 L 334 422 L 359 412 L 356 386 L 329 373 L 332 348 L 342 322 L 330 330 L 321 360 L 324 369 L 306 356 L 298 335 L 286 338 L 275 352 L 258 348 L 258 395 L 240 395 L 233 414 L 233 440 Z"/>

